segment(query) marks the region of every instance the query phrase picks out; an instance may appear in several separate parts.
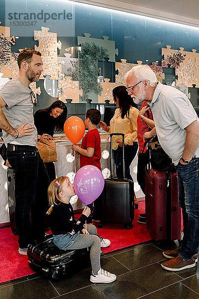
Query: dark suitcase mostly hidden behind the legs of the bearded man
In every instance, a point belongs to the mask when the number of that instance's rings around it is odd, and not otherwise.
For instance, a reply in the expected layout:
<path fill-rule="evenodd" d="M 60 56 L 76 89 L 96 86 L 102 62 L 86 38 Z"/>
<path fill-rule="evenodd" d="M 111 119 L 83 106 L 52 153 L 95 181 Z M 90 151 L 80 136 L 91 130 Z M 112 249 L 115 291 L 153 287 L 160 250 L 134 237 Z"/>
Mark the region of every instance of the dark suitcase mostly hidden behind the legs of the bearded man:
<path fill-rule="evenodd" d="M 8 207 L 9 207 L 9 222 L 10 228 L 14 235 L 17 235 L 16 225 L 15 225 L 15 186 L 14 186 L 14 171 L 11 167 L 7 168 L 7 197 L 8 197 Z"/>

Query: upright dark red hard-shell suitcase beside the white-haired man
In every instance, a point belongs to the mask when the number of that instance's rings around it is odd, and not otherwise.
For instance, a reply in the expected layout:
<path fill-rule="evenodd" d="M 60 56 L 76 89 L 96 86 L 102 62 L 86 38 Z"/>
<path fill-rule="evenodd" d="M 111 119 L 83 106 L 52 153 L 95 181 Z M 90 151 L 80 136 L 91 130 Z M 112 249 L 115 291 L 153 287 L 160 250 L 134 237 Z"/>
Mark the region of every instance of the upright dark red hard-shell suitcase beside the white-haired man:
<path fill-rule="evenodd" d="M 145 170 L 146 225 L 154 240 L 181 239 L 177 172 Z"/>

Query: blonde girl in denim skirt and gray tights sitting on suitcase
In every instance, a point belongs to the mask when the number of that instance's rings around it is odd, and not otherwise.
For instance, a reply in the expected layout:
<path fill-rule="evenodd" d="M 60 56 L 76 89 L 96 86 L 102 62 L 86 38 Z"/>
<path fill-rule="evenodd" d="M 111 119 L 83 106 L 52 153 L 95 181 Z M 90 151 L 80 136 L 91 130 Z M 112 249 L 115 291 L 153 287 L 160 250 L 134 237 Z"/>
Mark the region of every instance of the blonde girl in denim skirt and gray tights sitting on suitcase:
<path fill-rule="evenodd" d="M 100 267 L 100 238 L 94 225 L 85 228 L 85 222 L 90 215 L 90 208 L 85 207 L 79 220 L 75 220 L 73 207 L 69 203 L 75 195 L 74 185 L 67 176 L 54 179 L 48 187 L 48 199 L 51 214 L 51 232 L 55 245 L 62 250 L 74 250 L 91 247 L 92 283 L 111 283 L 116 275 L 104 271 Z"/>

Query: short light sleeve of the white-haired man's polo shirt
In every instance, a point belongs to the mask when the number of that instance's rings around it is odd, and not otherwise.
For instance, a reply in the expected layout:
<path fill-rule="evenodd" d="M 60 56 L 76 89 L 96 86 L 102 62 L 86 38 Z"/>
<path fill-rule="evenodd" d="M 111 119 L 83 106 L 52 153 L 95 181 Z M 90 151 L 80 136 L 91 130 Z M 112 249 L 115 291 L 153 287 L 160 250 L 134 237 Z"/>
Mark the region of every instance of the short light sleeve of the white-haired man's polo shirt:
<path fill-rule="evenodd" d="M 183 98 L 175 98 L 173 101 L 169 101 L 168 113 L 172 120 L 174 120 L 183 130 L 194 121 L 198 120 L 192 104 L 188 103 L 186 99 Z"/>

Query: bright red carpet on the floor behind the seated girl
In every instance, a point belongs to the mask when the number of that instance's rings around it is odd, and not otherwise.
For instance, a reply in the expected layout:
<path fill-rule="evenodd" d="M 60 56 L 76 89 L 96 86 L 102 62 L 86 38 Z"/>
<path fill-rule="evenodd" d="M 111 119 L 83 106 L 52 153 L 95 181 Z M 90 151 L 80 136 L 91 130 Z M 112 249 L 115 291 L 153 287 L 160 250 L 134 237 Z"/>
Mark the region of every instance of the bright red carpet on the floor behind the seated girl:
<path fill-rule="evenodd" d="M 122 225 L 112 224 L 98 229 L 100 236 L 111 241 L 109 247 L 102 248 L 104 253 L 151 239 L 146 225 L 137 223 L 138 215 L 144 211 L 145 203 L 140 202 L 139 209 L 135 210 L 132 229 L 127 230 Z M 0 229 L 0 283 L 34 273 L 28 266 L 27 256 L 18 253 L 17 238 L 12 234 L 10 228 Z"/>

